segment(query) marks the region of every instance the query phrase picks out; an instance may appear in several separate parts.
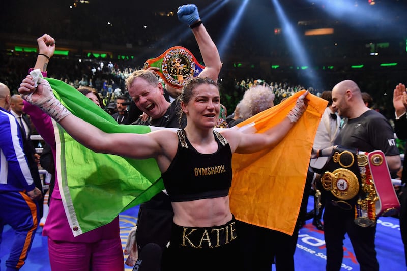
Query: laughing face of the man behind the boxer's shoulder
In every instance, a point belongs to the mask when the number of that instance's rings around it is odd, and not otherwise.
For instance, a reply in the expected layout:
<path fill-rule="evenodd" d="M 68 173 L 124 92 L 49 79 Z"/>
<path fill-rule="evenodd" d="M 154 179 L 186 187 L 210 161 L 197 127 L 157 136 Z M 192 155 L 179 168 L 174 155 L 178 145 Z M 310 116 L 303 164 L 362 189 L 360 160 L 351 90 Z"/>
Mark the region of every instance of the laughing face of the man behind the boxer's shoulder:
<path fill-rule="evenodd" d="M 161 83 L 154 85 L 138 77 L 129 85 L 128 91 L 136 106 L 153 119 L 162 117 L 168 109 Z"/>

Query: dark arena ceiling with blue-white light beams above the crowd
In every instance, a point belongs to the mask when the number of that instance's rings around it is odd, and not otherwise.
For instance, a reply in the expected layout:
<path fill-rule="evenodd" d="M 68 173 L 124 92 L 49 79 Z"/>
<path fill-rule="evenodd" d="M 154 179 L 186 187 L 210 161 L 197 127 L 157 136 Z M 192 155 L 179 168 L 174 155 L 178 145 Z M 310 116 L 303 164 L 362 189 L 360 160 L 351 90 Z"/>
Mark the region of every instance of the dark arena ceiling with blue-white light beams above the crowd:
<path fill-rule="evenodd" d="M 287 25 L 279 20 L 279 11 L 297 31 L 300 41 L 306 29 L 332 27 L 333 35 L 315 40 L 336 38 L 345 40 L 403 39 L 407 36 L 405 0 L 197 0 L 200 16 L 214 41 L 231 32 L 229 45 L 246 43 L 263 53 L 280 43 Z M 184 1 L 134 0 L 43 0 L 2 1 L 0 33 L 38 37 L 49 33 L 55 38 L 102 43 L 154 47 L 157 42 L 177 43 L 186 27 L 178 21 L 176 12 Z M 276 8 L 276 5 L 280 9 Z M 243 7 L 244 6 L 244 7 Z M 243 7 L 243 8 L 242 8 Z M 172 12 L 172 13 L 171 13 Z M 231 22 L 235 20 L 235 25 Z M 171 32 L 171 30 L 175 32 Z M 169 36 L 168 36 L 169 35 Z M 327 38 L 328 37 L 328 38 Z M 191 36 L 188 37 L 189 39 Z M 2 35 L 2 41 L 6 37 Z M 99 48 L 102 49 L 102 48 Z"/>

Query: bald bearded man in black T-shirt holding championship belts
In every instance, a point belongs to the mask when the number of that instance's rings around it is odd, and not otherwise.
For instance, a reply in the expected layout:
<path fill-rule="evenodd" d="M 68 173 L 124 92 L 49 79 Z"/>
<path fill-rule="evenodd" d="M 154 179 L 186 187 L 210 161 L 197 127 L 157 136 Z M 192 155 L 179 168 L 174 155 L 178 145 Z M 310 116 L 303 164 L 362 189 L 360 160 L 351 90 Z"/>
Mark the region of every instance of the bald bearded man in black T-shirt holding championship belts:
<path fill-rule="evenodd" d="M 332 89 L 332 110 L 346 118 L 334 145 L 364 152 L 382 150 L 390 171 L 401 166 L 393 128 L 381 113 L 368 108 L 359 86 L 352 80 L 339 82 Z M 329 191 L 328 191 L 329 192 Z M 379 270 L 374 245 L 376 225 L 361 227 L 355 223 L 355 208 L 334 206 L 326 197 L 324 236 L 327 248 L 327 270 L 340 270 L 343 239 L 348 234 L 361 270 Z"/>

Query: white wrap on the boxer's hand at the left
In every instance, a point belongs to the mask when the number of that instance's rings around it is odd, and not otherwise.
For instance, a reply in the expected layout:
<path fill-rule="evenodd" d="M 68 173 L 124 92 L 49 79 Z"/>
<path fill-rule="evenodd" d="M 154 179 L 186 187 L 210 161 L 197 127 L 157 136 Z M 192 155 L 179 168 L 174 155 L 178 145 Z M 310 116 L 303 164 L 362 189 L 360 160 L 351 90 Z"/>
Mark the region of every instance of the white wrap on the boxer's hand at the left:
<path fill-rule="evenodd" d="M 34 104 L 41 108 L 44 113 L 55 119 L 55 121 L 57 122 L 61 121 L 61 119 L 71 114 L 71 112 L 69 112 L 68 109 L 66 109 L 65 106 L 63 106 L 61 102 L 55 98 L 52 93 L 51 86 L 49 85 L 49 82 L 47 80 L 45 80 L 44 78 L 40 78 L 38 80 L 38 84 L 42 85 L 43 97 L 33 102 L 33 93 L 30 93 L 24 96 L 23 99 L 25 99 L 28 103 Z"/>

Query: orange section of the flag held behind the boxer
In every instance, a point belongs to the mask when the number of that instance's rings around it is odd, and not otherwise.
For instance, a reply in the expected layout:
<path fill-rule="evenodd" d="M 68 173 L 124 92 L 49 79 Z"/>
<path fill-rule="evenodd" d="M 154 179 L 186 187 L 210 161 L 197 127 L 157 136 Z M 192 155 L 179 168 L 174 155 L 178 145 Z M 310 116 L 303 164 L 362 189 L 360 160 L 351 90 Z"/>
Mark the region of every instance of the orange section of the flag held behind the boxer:
<path fill-rule="evenodd" d="M 293 108 L 297 92 L 284 102 L 238 124 L 254 123 L 261 133 L 281 122 Z M 308 107 L 288 135 L 272 150 L 234 154 L 230 207 L 236 219 L 289 235 L 300 212 L 315 133 L 327 101 L 307 96 Z"/>

